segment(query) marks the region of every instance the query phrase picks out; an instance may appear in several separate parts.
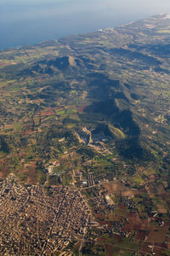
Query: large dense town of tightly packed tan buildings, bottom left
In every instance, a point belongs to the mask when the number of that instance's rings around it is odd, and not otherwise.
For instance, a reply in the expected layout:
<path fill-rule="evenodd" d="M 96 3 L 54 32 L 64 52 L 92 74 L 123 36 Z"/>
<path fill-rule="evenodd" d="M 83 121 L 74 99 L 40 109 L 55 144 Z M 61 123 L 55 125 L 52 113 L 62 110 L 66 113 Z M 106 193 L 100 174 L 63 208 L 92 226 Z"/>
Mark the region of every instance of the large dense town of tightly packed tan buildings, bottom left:
<path fill-rule="evenodd" d="M 93 224 L 87 202 L 65 186 L 22 186 L 10 175 L 0 181 L 0 254 L 62 252 L 82 241 Z"/>

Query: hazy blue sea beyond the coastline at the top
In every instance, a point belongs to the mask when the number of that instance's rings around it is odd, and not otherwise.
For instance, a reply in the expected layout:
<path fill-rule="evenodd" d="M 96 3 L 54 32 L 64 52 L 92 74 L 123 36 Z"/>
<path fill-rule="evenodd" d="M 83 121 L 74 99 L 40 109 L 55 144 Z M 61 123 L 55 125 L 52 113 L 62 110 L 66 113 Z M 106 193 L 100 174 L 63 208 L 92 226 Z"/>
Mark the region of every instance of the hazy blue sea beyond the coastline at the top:
<path fill-rule="evenodd" d="M 93 32 L 159 13 L 170 13 L 169 0 L 0 0 L 0 49 Z"/>

